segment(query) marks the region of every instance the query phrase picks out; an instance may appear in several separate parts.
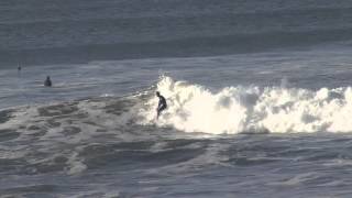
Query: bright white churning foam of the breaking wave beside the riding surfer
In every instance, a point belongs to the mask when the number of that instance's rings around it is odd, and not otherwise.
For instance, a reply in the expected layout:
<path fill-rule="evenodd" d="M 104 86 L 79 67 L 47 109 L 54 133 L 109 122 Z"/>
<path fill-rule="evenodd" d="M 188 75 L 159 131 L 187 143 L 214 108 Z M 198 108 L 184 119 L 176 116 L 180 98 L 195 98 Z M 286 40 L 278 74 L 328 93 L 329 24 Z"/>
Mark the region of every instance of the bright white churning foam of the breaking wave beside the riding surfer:
<path fill-rule="evenodd" d="M 168 109 L 156 124 L 186 132 L 351 132 L 352 89 L 312 91 L 285 87 L 226 87 L 212 92 L 200 85 L 163 77 L 157 84 Z M 155 122 L 157 99 L 140 113 Z"/>

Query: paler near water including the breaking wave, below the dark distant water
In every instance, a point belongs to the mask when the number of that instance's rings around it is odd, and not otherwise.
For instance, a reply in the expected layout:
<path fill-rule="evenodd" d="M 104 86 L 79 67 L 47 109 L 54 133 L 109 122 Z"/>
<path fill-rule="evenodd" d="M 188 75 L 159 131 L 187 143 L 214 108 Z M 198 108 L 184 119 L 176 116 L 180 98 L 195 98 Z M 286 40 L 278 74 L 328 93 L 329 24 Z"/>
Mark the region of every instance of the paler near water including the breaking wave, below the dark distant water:
<path fill-rule="evenodd" d="M 349 54 L 2 69 L 0 194 L 350 197 Z M 158 120 L 156 91 L 168 103 Z"/>

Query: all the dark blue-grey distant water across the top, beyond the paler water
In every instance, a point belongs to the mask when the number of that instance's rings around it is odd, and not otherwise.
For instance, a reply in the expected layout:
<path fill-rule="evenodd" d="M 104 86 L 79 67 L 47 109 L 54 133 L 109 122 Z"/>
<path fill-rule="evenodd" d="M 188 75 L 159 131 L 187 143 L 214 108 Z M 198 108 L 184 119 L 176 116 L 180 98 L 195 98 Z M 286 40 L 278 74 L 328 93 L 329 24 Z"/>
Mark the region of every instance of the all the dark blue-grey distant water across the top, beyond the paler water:
<path fill-rule="evenodd" d="M 346 42 L 351 8 L 349 0 L 6 0 L 0 62 L 209 56 Z"/>

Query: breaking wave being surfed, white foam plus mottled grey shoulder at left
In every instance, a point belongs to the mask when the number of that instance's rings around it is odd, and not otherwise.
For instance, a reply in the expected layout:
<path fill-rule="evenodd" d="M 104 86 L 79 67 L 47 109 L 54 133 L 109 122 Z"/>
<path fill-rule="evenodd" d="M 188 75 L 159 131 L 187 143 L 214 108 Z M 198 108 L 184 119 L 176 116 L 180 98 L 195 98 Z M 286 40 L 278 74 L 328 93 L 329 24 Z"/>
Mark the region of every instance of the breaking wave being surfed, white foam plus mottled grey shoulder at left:
<path fill-rule="evenodd" d="M 96 135 L 153 139 L 165 131 L 208 134 L 351 132 L 352 87 L 309 90 L 232 86 L 217 90 L 172 77 L 125 97 L 98 97 L 0 111 L 0 141 L 63 140 Z M 155 90 L 168 108 L 155 119 Z M 155 133 L 155 134 L 153 134 Z"/>

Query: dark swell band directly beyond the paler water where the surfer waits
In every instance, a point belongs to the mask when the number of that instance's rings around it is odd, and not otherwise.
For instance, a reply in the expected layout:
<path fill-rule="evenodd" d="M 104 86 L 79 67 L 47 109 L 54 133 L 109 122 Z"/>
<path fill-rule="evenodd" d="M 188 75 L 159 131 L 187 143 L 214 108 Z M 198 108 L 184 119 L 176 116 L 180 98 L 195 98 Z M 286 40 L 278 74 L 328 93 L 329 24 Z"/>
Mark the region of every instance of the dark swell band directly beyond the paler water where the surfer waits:
<path fill-rule="evenodd" d="M 351 35 L 352 29 L 338 29 L 307 32 L 198 36 L 158 42 L 2 50 L 0 51 L 0 62 L 7 64 L 7 66 L 13 66 L 19 62 L 25 62 L 28 65 L 45 65 L 87 63 L 90 61 L 105 59 L 227 55 L 351 41 Z"/>

